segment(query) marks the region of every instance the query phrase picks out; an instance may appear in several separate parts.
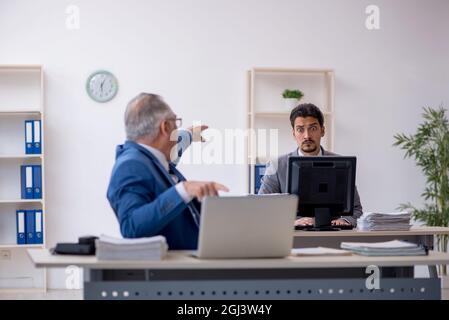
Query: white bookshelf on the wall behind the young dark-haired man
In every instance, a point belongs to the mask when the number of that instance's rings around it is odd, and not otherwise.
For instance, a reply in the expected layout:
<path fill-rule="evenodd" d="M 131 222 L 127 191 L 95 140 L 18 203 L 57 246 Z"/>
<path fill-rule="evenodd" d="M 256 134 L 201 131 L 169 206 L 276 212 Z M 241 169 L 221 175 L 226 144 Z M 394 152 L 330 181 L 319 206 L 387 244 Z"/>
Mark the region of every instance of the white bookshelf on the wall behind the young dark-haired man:
<path fill-rule="evenodd" d="M 253 68 L 247 72 L 247 129 L 256 132 L 248 135 L 246 144 L 247 190 L 254 192 L 254 166 L 265 164 L 277 156 L 290 153 L 296 147 L 292 136 L 290 112 L 284 106 L 282 92 L 299 89 L 304 97 L 299 103 L 313 103 L 324 115 L 326 134 L 322 146 L 329 151 L 334 147 L 334 71 L 332 69 Z M 259 136 L 259 129 L 266 130 Z M 274 132 L 277 130 L 277 139 Z M 270 136 L 271 134 L 271 136 Z M 276 140 L 272 145 L 270 139 Z M 274 153 L 274 154 L 273 154 Z"/>

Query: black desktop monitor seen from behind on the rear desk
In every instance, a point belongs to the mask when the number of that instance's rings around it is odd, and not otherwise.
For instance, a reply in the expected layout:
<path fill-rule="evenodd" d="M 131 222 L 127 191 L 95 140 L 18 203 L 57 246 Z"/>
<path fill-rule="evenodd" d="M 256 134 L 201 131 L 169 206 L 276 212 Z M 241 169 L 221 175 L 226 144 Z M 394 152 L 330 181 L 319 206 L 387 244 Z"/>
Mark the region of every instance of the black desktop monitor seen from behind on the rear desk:
<path fill-rule="evenodd" d="M 289 157 L 287 191 L 299 197 L 297 215 L 314 217 L 311 230 L 338 230 L 331 221 L 352 216 L 356 157 Z"/>

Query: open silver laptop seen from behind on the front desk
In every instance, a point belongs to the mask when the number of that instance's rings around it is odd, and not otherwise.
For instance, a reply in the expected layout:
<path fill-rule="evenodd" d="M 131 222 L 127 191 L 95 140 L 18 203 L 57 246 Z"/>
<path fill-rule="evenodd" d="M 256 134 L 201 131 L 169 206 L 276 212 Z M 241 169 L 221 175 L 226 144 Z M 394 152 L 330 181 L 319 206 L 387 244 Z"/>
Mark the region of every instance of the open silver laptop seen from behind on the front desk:
<path fill-rule="evenodd" d="M 293 246 L 296 195 L 206 197 L 198 258 L 275 258 Z"/>

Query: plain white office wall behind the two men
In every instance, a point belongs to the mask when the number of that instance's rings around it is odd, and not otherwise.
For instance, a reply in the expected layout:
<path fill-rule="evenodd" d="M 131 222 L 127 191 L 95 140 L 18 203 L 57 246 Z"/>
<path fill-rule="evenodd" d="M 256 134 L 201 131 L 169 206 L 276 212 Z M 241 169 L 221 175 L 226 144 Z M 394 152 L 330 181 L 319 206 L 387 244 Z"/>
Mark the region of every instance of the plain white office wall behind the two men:
<path fill-rule="evenodd" d="M 370 4 L 380 30 L 365 28 Z M 80 29 L 66 27 L 69 5 Z M 423 176 L 393 135 L 414 132 L 422 107 L 449 105 L 448 30 L 447 0 L 0 0 L 0 63 L 45 67 L 49 244 L 119 234 L 105 194 L 130 98 L 159 93 L 185 123 L 244 128 L 253 66 L 334 68 L 335 151 L 358 157 L 364 208 L 421 204 Z M 86 95 L 97 69 L 118 77 L 110 103 Z M 241 166 L 181 170 L 245 192 Z M 49 275 L 64 287 L 63 272 Z"/>

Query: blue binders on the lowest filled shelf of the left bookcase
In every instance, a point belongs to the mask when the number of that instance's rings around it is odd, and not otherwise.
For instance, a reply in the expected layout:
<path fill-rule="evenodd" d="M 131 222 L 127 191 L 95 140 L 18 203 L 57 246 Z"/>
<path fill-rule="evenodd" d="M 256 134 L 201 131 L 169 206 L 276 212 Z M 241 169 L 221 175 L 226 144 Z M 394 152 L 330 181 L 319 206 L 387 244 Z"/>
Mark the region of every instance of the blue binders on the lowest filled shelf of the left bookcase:
<path fill-rule="evenodd" d="M 16 211 L 17 244 L 43 244 L 42 210 Z"/>

